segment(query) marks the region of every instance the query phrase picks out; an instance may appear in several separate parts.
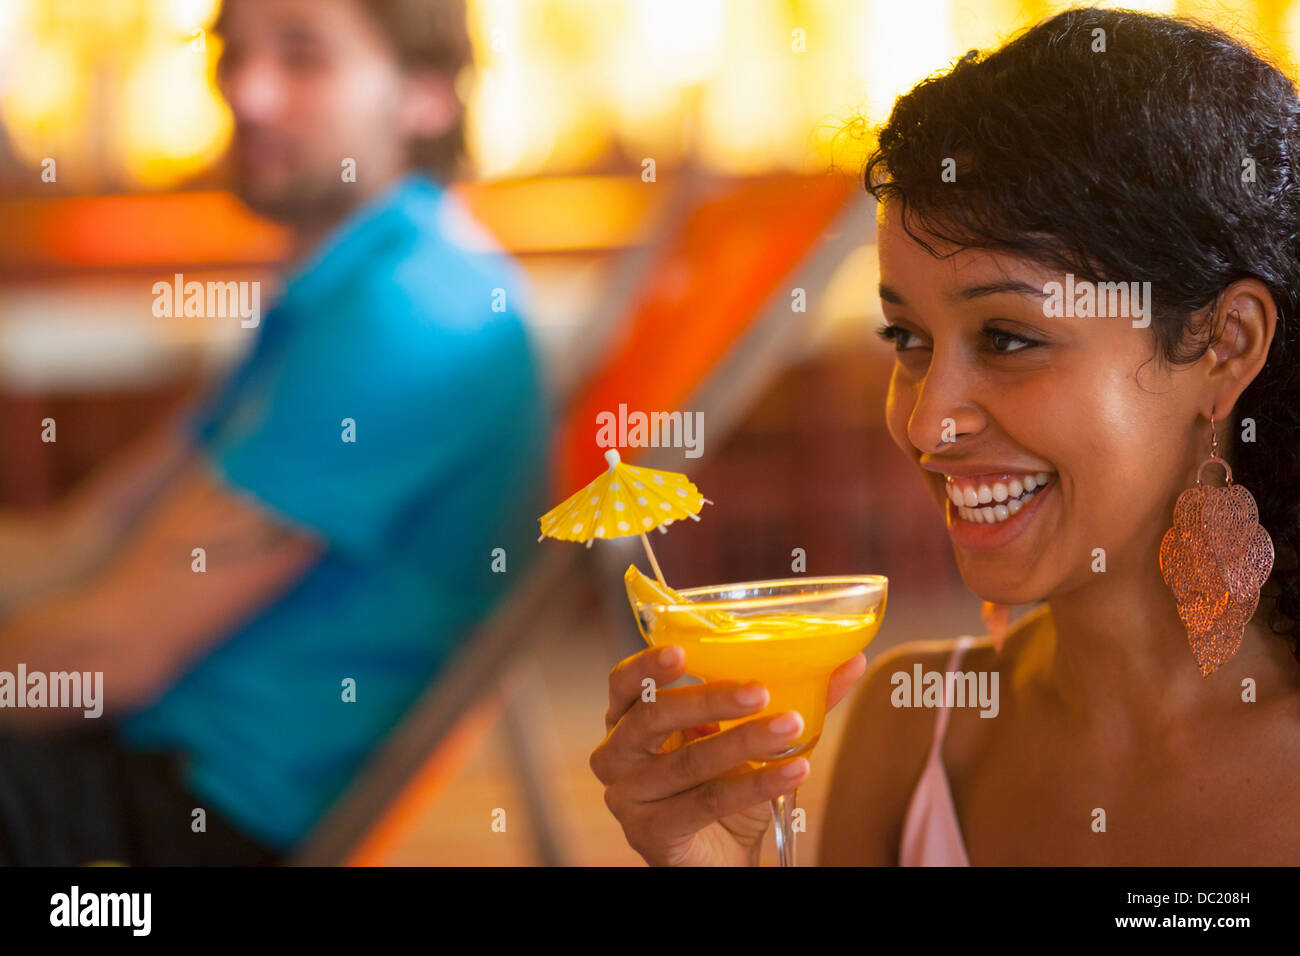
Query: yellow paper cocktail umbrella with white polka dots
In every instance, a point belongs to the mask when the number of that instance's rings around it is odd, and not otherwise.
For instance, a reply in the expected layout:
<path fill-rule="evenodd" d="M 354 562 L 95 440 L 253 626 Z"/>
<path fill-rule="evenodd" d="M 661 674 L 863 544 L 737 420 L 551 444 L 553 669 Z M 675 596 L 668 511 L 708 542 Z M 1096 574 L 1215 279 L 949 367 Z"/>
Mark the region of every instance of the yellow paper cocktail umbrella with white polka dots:
<path fill-rule="evenodd" d="M 541 516 L 537 540 L 586 541 L 590 548 L 598 537 L 640 535 L 655 578 L 667 587 L 646 532 L 667 531 L 681 518 L 698 522 L 699 509 L 712 502 L 685 475 L 624 464 L 614 449 L 604 453 L 604 460 L 610 467 L 595 481 Z"/>

